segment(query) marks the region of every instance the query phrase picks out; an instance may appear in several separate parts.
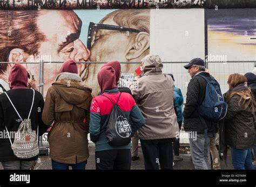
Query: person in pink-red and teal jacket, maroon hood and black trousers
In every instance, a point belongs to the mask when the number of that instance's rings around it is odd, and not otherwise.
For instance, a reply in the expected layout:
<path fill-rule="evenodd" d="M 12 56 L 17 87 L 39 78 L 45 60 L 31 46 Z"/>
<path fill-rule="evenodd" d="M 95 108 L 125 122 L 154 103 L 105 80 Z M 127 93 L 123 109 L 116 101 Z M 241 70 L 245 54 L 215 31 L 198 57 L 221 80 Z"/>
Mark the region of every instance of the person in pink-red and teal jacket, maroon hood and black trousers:
<path fill-rule="evenodd" d="M 131 119 L 133 122 L 132 136 L 145 123 L 132 96 L 129 93 L 120 92 L 116 82 L 114 68 L 105 66 L 100 69 L 98 83 L 102 94 L 92 99 L 90 110 L 90 138 L 96 145 L 96 169 L 130 169 L 131 167 L 131 143 L 117 147 L 107 143 L 106 128 L 113 108 L 111 102 L 117 103 L 119 98 L 117 105 L 124 112 L 126 119 L 128 121 Z"/>

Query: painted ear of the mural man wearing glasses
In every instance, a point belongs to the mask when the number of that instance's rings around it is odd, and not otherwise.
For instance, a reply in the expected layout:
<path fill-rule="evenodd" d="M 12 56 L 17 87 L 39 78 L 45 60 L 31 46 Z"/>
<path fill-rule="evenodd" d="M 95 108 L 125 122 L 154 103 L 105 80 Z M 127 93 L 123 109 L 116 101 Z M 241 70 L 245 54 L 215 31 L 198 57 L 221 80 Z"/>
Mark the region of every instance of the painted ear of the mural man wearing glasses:
<path fill-rule="evenodd" d="M 150 47 L 150 35 L 147 32 L 139 32 L 134 38 L 133 44 L 125 55 L 127 60 L 137 59 Z"/>

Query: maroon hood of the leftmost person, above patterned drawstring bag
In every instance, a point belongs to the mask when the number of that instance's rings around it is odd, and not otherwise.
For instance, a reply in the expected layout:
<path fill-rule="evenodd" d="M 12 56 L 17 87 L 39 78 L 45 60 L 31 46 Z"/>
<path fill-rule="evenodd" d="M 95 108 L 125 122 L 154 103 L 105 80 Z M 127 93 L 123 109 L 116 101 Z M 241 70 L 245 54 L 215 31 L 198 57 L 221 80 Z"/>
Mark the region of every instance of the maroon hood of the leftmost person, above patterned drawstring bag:
<path fill-rule="evenodd" d="M 9 74 L 10 89 L 28 88 L 28 73 L 22 64 L 14 64 Z"/>

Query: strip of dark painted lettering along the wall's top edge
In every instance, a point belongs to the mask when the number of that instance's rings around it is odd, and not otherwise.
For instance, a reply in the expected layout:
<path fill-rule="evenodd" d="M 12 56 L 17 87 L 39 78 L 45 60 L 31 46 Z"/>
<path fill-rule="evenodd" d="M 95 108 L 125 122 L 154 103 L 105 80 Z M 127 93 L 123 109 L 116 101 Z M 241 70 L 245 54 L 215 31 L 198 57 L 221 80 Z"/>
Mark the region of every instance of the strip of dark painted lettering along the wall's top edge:
<path fill-rule="evenodd" d="M 0 0 L 0 9 L 203 8 L 204 0 Z"/>

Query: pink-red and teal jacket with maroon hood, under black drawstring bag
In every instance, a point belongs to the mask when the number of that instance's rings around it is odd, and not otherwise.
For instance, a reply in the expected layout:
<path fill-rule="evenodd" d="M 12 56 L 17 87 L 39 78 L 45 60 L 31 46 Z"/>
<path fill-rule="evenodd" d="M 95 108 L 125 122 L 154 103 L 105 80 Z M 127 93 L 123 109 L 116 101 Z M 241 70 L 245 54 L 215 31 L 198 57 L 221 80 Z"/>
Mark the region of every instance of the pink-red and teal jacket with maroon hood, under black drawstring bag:
<path fill-rule="evenodd" d="M 116 72 L 110 66 L 105 66 L 98 73 L 98 83 L 102 90 L 102 95 L 111 99 L 113 103 L 117 102 L 119 95 L 116 85 Z M 109 123 L 113 104 L 105 96 L 99 95 L 92 99 L 90 113 L 90 138 L 96 145 L 96 151 L 110 149 L 130 149 L 131 144 L 125 146 L 112 147 L 106 140 L 106 128 Z M 134 134 L 145 123 L 142 113 L 139 111 L 134 99 L 129 93 L 122 93 L 118 106 L 124 112 L 127 120 L 131 119 L 133 124 L 132 134 Z"/>

